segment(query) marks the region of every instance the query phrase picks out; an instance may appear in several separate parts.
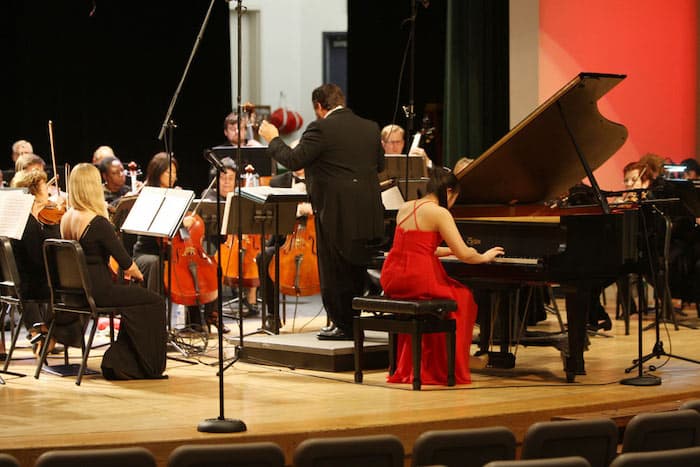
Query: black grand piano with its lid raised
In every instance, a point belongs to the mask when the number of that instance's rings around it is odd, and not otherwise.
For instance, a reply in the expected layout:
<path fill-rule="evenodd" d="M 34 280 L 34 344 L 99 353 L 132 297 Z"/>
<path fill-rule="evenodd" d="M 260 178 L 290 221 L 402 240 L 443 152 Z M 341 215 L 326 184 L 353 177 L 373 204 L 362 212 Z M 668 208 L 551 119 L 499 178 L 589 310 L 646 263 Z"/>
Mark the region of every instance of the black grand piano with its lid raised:
<path fill-rule="evenodd" d="M 591 294 L 638 261 L 637 212 L 611 207 L 593 176 L 627 138 L 597 105 L 624 78 L 579 74 L 455 174 L 460 196 L 452 212 L 465 241 L 479 251 L 503 246 L 506 257 L 484 265 L 448 261 L 447 272 L 477 291 L 558 284 L 566 300 L 568 382 L 585 374 Z M 592 202 L 559 202 L 585 178 Z"/>

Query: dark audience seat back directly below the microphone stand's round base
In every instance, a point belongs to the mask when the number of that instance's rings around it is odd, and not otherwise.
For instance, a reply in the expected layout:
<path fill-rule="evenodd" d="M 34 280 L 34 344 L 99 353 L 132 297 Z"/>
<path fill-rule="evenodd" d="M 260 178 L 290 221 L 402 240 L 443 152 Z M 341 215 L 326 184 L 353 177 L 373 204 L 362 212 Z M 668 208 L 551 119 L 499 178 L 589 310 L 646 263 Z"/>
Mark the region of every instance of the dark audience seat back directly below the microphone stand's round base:
<path fill-rule="evenodd" d="M 168 467 L 284 467 L 284 452 L 273 442 L 185 444 L 170 453 Z"/>

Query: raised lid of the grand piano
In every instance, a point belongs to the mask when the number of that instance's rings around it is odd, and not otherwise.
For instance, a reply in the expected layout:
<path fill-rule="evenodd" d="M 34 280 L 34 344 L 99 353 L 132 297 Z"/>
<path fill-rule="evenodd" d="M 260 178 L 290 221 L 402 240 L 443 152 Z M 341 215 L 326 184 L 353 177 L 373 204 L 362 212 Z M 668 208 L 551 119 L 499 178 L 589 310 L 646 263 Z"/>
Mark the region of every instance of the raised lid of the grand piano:
<path fill-rule="evenodd" d="M 625 77 L 576 76 L 455 174 L 461 185 L 457 204 L 538 203 L 566 193 L 587 176 L 576 145 L 593 171 L 627 139 L 627 129 L 603 117 L 597 105 Z"/>

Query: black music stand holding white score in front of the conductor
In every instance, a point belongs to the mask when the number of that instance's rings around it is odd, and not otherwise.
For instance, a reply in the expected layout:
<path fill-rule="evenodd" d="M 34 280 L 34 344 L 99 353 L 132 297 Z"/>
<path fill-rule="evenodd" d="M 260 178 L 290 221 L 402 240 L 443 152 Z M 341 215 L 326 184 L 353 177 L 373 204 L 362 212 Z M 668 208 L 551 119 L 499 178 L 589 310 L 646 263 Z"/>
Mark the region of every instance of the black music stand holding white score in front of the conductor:
<path fill-rule="evenodd" d="M 241 196 L 231 192 L 226 198 L 226 208 L 222 222 L 222 235 L 233 234 L 239 231 L 237 216 L 232 213 L 241 210 L 240 231 L 245 234 L 259 234 L 261 239 L 266 234 L 288 234 L 294 231 L 296 223 L 297 204 L 308 201 L 308 195 L 292 188 L 272 188 L 269 186 L 247 187 L 241 189 Z M 264 240 L 263 240 L 264 243 Z M 275 277 L 279 277 L 279 245 L 275 245 Z M 265 246 L 261 249 L 261 263 L 265 264 Z M 239 257 L 239 263 L 242 264 Z M 243 272 L 239 268 L 239 275 Z M 262 272 L 266 274 L 266 271 Z M 279 281 L 275 282 L 274 303 L 266 303 L 265 280 L 260 278 L 262 307 L 262 327 L 257 332 L 279 334 Z M 239 290 L 239 294 L 241 291 Z M 267 306 L 272 305 L 270 323 L 268 323 Z M 241 334 L 241 339 L 243 334 Z M 241 342 L 241 347 L 242 347 Z"/>

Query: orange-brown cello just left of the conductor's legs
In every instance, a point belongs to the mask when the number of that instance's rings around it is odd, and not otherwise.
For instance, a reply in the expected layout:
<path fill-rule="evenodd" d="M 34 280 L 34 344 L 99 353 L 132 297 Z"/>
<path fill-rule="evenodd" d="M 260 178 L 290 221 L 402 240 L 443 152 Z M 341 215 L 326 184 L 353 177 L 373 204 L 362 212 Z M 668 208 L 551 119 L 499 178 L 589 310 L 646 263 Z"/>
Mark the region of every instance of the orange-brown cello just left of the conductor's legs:
<path fill-rule="evenodd" d="M 305 297 L 321 292 L 314 224 L 313 215 L 297 220 L 294 232 L 279 249 L 279 288 L 285 295 Z M 268 273 L 277 282 L 274 266 L 273 257 Z"/>

